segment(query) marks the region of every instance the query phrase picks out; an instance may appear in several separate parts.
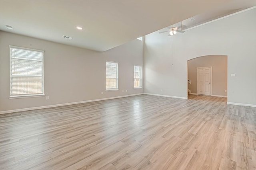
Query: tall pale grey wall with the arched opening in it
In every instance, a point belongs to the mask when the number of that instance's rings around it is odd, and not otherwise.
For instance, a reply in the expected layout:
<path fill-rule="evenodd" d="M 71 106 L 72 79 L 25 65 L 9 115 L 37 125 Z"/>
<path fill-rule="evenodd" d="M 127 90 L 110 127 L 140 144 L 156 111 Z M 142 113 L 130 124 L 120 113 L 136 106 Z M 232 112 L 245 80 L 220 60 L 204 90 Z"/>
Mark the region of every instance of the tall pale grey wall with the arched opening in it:
<path fill-rule="evenodd" d="M 172 37 L 146 35 L 144 92 L 187 97 L 187 61 L 228 55 L 228 102 L 256 105 L 255 17 L 256 8 Z"/>

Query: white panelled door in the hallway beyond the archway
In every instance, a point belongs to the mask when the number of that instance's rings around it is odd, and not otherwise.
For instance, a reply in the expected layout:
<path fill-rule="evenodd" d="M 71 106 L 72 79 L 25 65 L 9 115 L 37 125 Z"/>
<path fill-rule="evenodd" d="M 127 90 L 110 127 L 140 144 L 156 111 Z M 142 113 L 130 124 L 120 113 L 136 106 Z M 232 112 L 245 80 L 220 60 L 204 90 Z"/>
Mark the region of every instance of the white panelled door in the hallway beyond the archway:
<path fill-rule="evenodd" d="M 212 67 L 197 68 L 197 94 L 211 95 Z"/>

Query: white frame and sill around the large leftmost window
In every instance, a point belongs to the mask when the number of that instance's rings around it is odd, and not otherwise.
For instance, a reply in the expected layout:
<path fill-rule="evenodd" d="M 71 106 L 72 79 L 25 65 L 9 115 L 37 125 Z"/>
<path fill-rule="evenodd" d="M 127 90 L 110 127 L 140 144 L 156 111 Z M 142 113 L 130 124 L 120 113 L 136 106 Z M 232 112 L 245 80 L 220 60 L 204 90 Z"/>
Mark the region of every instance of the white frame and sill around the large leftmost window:
<path fill-rule="evenodd" d="M 12 91 L 12 82 L 11 82 L 11 78 L 12 76 L 12 55 L 11 55 L 11 49 L 20 49 L 20 50 L 27 50 L 27 51 L 36 51 L 36 52 L 40 52 L 42 53 L 42 93 L 40 94 L 18 94 L 18 95 L 15 95 L 15 94 L 11 94 L 11 91 Z M 16 99 L 16 98 L 32 98 L 32 97 L 42 97 L 42 96 L 45 96 L 44 94 L 44 51 L 43 50 L 38 50 L 38 49 L 30 49 L 30 48 L 25 48 L 25 47 L 18 47 L 18 46 L 14 46 L 14 45 L 9 45 L 9 50 L 10 50 L 10 96 L 8 97 L 9 99 Z M 24 59 L 22 59 L 24 61 Z M 38 77 L 38 76 L 35 76 L 35 77 Z"/>

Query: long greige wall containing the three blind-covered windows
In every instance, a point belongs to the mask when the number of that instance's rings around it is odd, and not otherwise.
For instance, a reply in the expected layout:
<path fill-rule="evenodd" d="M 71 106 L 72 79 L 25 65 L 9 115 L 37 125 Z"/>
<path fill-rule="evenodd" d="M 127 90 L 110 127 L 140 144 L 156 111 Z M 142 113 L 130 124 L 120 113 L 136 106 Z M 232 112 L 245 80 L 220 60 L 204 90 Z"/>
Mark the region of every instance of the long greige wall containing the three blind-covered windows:
<path fill-rule="evenodd" d="M 0 43 L 0 111 L 143 93 L 143 88 L 133 89 L 133 66 L 143 66 L 143 41 L 136 39 L 100 53 L 1 31 Z M 44 93 L 50 100 L 8 98 L 9 45 L 44 50 Z M 106 61 L 119 62 L 119 91 L 105 92 Z"/>

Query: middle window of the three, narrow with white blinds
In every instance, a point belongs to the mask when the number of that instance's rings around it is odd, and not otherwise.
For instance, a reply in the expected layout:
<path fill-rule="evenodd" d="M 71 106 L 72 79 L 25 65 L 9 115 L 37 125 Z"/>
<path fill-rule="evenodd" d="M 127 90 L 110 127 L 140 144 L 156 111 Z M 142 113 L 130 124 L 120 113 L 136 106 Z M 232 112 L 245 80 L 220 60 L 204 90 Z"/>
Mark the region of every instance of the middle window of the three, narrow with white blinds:
<path fill-rule="evenodd" d="M 106 61 L 106 90 L 118 90 L 118 63 Z"/>

